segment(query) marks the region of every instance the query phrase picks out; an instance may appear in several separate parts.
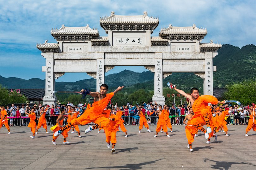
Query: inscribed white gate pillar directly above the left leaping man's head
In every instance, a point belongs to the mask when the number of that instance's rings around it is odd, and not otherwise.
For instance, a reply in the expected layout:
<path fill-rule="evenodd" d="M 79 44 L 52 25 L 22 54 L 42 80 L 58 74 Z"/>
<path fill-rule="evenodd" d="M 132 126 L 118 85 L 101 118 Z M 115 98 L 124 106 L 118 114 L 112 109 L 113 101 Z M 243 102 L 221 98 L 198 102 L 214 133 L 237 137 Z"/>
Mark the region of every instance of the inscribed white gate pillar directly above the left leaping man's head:
<path fill-rule="evenodd" d="M 96 53 L 96 56 L 97 56 L 96 91 L 100 92 L 101 84 L 104 84 L 104 81 L 105 81 L 104 53 Z"/>

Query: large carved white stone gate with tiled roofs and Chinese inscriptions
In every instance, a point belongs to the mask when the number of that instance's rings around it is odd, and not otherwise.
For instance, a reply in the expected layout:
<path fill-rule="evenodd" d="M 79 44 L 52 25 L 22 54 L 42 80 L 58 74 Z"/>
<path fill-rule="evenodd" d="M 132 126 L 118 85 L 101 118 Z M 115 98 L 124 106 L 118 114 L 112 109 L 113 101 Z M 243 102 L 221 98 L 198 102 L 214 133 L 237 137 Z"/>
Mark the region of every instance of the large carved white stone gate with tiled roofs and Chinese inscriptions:
<path fill-rule="evenodd" d="M 97 91 L 104 83 L 105 72 L 114 66 L 145 66 L 155 73 L 152 100 L 164 104 L 163 78 L 173 72 L 194 72 L 204 79 L 204 94 L 213 94 L 212 58 L 221 44 L 200 43 L 207 34 L 206 28 L 175 27 L 162 28 L 159 37 L 151 37 L 159 19 L 143 15 L 115 15 L 100 18 L 101 27 L 108 34 L 100 37 L 97 29 L 89 25 L 52 29 L 57 43 L 37 44 L 46 58 L 46 94 L 44 104 L 56 104 L 52 94 L 55 79 L 65 72 L 86 72 L 96 79 Z"/>

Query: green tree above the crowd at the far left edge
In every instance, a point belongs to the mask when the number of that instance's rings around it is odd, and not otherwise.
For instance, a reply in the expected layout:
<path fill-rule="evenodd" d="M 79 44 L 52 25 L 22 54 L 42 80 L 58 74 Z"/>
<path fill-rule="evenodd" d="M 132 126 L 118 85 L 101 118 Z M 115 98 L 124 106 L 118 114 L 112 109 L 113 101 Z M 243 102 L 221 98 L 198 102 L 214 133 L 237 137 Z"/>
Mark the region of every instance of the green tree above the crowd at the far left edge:
<path fill-rule="evenodd" d="M 9 91 L 0 85 L 0 104 L 7 105 L 11 103 L 26 103 L 27 97 L 24 94 L 17 93 L 13 91 L 13 93 L 9 93 Z"/>

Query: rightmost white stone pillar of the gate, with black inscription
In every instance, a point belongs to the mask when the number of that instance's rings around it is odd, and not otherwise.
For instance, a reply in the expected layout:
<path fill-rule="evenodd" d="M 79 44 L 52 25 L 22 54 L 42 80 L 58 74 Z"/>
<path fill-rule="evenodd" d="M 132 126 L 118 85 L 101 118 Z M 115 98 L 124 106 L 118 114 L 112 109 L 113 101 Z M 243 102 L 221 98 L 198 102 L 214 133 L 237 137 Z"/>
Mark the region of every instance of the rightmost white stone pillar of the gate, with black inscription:
<path fill-rule="evenodd" d="M 213 95 L 213 63 L 212 53 L 206 52 L 205 56 L 205 78 L 204 78 L 204 95 Z"/>

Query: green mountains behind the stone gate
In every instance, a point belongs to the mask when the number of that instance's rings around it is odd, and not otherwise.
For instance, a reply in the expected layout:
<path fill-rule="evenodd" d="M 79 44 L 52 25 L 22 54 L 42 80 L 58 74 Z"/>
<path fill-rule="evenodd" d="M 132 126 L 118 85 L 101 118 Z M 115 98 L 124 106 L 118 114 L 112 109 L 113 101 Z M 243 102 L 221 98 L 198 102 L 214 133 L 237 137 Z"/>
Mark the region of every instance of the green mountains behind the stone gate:
<path fill-rule="evenodd" d="M 232 45 L 222 45 L 218 55 L 213 59 L 213 65 L 217 66 L 214 72 L 214 88 L 222 88 L 233 82 L 241 82 L 256 75 L 256 46 L 246 45 L 242 48 Z M 180 89 L 188 92 L 192 87 L 203 90 L 203 79 L 194 73 L 173 73 L 163 79 L 163 87 L 167 82 L 173 82 Z M 154 90 L 154 73 L 145 71 L 136 73 L 124 70 L 120 73 L 105 76 L 105 83 L 110 90 L 125 85 L 123 90 L 132 93 L 137 89 Z M 0 84 L 7 88 L 45 88 L 45 80 L 32 78 L 24 80 L 15 77 L 4 78 L 0 76 Z M 96 79 L 86 79 L 77 82 L 56 82 L 55 89 L 59 91 L 77 91 L 82 88 L 96 89 Z"/>

